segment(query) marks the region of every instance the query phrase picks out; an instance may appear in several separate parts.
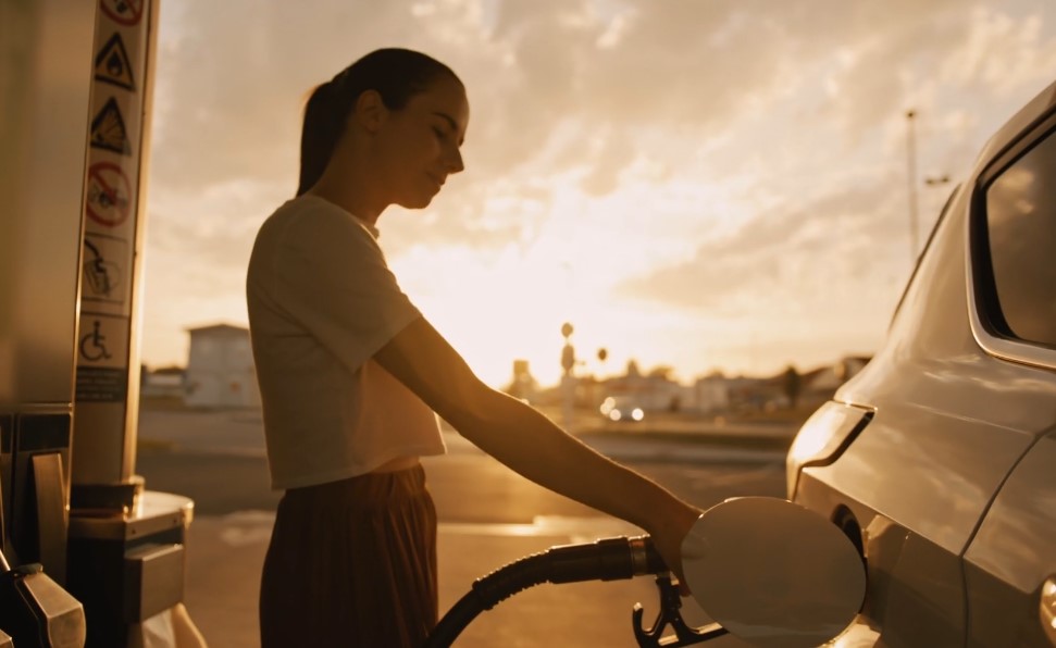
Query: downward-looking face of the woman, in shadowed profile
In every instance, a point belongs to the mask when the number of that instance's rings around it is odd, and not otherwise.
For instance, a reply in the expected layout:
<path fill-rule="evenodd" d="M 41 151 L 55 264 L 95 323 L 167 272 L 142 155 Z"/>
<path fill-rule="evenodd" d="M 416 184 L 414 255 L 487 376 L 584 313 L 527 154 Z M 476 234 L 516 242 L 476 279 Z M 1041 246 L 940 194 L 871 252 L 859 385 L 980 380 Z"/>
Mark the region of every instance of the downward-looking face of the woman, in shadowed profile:
<path fill-rule="evenodd" d="M 387 111 L 376 133 L 375 161 L 388 200 L 427 207 L 452 173 L 462 171 L 459 149 L 470 108 L 462 84 L 440 76 L 403 109 Z"/>

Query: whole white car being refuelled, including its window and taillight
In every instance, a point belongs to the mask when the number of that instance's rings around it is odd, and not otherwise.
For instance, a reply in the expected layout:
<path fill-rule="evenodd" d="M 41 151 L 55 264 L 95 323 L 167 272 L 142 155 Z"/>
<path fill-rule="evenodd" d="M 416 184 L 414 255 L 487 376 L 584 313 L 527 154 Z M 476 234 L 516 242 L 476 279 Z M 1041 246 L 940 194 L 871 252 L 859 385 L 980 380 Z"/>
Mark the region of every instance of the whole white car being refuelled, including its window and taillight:
<path fill-rule="evenodd" d="M 786 468 L 867 565 L 834 645 L 1056 646 L 1056 84 L 954 190 L 886 341 Z"/>

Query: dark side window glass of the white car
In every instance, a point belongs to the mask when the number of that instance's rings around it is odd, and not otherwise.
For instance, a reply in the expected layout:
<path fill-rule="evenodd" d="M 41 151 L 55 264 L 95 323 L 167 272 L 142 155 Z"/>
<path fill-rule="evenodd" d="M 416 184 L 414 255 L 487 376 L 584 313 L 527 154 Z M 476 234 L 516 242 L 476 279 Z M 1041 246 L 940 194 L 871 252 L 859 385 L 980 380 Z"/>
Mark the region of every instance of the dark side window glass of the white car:
<path fill-rule="evenodd" d="M 1056 347 L 1056 135 L 986 188 L 986 238 L 999 332 Z"/>

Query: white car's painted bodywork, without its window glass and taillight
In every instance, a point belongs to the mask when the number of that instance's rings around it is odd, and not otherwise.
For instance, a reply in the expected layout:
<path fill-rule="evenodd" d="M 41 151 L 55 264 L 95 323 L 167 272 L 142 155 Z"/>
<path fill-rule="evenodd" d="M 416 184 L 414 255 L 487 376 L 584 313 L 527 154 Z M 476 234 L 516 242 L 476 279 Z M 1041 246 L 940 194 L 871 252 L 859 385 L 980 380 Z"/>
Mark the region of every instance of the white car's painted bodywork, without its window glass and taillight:
<path fill-rule="evenodd" d="M 1039 613 L 1056 576 L 1056 348 L 984 325 L 971 238 L 986 183 L 1052 132 L 1054 107 L 1056 84 L 991 138 L 883 347 L 836 391 L 872 419 L 831 462 L 790 475 L 790 496 L 843 527 L 867 562 L 866 603 L 834 645 L 1056 645 Z"/>

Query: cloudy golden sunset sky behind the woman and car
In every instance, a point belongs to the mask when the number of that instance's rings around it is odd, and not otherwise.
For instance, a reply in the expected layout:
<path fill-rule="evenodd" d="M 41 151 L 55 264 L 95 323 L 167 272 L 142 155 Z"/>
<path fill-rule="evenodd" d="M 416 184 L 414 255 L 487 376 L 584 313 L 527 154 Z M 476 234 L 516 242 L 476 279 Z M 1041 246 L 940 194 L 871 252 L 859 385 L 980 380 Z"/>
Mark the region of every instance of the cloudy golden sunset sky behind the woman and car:
<path fill-rule="evenodd" d="M 556 382 L 564 322 L 580 374 L 634 360 L 688 383 L 872 354 L 914 239 L 1056 79 L 1052 0 L 160 7 L 152 367 L 186 363 L 187 328 L 247 324 L 246 265 L 296 189 L 307 95 L 376 48 L 426 52 L 467 86 L 465 171 L 427 209 L 387 210 L 380 242 L 496 386 L 514 359 Z"/>

